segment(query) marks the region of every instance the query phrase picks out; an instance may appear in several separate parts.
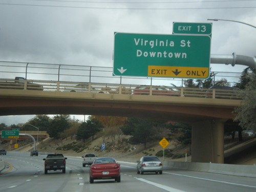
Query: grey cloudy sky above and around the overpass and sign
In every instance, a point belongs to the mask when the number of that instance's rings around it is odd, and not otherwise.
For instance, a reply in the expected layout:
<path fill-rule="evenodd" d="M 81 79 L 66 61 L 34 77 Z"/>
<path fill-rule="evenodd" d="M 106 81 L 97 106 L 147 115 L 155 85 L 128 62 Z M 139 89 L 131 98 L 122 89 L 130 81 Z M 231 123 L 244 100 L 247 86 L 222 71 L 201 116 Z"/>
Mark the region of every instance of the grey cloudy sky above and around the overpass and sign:
<path fill-rule="evenodd" d="M 256 55 L 255 28 L 207 18 L 256 26 L 256 1 L 0 0 L 0 60 L 113 67 L 114 32 L 171 34 L 173 22 L 212 22 L 211 54 Z"/>

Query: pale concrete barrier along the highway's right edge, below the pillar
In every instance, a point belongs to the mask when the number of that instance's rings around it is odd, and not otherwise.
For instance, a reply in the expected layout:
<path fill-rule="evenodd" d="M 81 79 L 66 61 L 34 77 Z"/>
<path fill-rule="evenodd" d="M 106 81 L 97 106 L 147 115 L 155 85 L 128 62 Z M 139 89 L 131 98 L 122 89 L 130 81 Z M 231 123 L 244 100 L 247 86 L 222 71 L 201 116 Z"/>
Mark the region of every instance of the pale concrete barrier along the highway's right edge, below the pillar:
<path fill-rule="evenodd" d="M 164 167 L 256 178 L 256 165 L 164 161 Z"/>

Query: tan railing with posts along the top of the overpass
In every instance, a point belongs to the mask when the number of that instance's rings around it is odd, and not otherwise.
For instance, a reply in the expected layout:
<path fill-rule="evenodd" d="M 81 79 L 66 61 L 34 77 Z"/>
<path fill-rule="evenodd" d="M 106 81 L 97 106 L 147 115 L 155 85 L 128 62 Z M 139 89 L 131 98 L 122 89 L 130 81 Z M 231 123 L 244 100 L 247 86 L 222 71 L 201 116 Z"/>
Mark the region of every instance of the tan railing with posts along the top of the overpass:
<path fill-rule="evenodd" d="M 9 79 L 0 79 L 0 89 L 16 89 L 15 83 L 8 87 L 1 87 Z M 242 99 L 240 91 L 233 90 L 196 89 L 168 86 L 138 86 L 136 84 L 111 84 L 111 83 L 89 83 L 89 82 L 68 82 L 68 81 L 47 81 L 47 80 L 25 80 L 20 89 L 28 90 L 26 84 L 36 83 L 43 87 L 44 91 L 60 92 L 82 92 L 82 93 L 108 93 L 128 95 L 150 95 L 150 96 L 175 96 L 175 97 L 196 97 L 196 98 L 219 98 L 219 99 Z M 40 91 L 40 90 L 36 90 Z"/>

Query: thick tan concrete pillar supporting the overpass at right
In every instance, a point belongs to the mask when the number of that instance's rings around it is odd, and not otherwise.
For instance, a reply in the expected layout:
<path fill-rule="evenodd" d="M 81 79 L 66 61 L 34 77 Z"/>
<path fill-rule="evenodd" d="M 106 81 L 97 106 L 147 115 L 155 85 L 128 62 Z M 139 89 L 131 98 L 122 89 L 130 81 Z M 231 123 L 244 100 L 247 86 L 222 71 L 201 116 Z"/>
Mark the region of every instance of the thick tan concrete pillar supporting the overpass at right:
<path fill-rule="evenodd" d="M 192 162 L 224 163 L 225 121 L 217 119 L 192 124 Z"/>

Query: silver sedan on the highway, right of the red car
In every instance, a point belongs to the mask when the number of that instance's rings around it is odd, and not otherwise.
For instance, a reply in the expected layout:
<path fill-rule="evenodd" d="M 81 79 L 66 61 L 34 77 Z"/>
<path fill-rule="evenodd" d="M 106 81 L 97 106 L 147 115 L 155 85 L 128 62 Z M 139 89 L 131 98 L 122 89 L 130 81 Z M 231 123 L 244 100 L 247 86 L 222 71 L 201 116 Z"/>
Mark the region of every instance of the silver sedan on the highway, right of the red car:
<path fill-rule="evenodd" d="M 137 163 L 137 174 L 143 175 L 145 172 L 163 173 L 163 164 L 156 156 L 143 156 Z"/>

